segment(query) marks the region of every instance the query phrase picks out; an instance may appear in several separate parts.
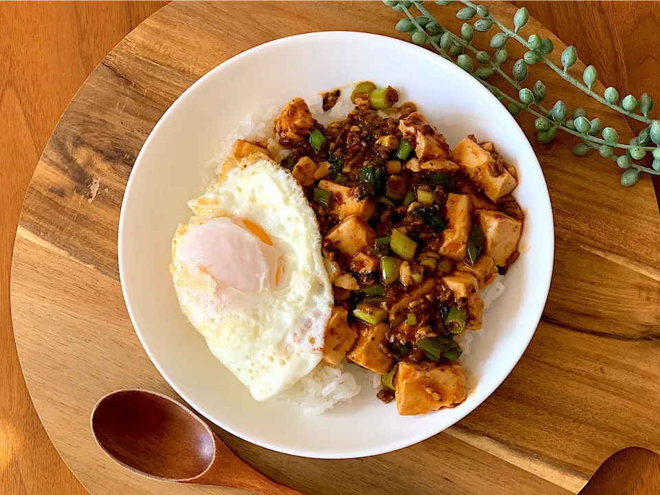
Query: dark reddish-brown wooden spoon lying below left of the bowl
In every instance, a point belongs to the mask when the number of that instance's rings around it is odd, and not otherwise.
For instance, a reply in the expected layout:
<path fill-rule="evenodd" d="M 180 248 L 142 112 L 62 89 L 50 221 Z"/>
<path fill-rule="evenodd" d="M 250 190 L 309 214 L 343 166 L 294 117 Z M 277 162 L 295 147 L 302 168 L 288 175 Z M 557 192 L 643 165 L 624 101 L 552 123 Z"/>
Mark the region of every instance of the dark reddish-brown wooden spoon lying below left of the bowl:
<path fill-rule="evenodd" d="M 166 395 L 131 388 L 109 393 L 91 412 L 91 432 L 113 461 L 147 478 L 300 494 L 243 462 L 204 421 Z"/>

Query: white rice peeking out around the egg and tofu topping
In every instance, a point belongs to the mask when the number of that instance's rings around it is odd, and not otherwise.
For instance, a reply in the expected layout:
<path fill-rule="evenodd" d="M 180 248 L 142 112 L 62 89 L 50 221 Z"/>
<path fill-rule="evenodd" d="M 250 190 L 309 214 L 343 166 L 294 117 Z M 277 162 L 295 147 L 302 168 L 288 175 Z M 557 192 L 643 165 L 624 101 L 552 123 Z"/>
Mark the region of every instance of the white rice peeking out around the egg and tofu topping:
<path fill-rule="evenodd" d="M 309 111 L 324 126 L 327 126 L 330 122 L 345 118 L 353 107 L 350 101 L 351 88 L 352 85 L 342 87 L 342 96 L 340 96 L 331 111 L 325 113 L 322 111 L 323 102 L 319 94 L 311 98 L 305 98 L 309 106 Z M 280 111 L 280 107 L 274 106 L 265 109 L 265 111 L 259 110 L 245 113 L 245 116 L 239 122 L 239 126 L 225 137 L 225 140 L 219 144 L 212 158 L 207 162 L 206 170 L 203 173 L 201 181 L 201 193 L 206 192 L 208 185 L 220 173 L 222 164 L 230 151 L 232 151 L 234 142 L 237 139 L 267 142 L 268 150 L 278 161 L 291 153 L 291 151 L 281 148 L 276 140 L 273 120 Z M 379 112 L 379 114 L 382 117 L 387 116 L 384 112 Z M 256 118 L 256 115 L 262 116 L 261 118 Z M 504 284 L 502 283 L 502 278 L 502 276 L 498 275 L 495 281 L 481 292 L 486 309 L 503 293 Z M 454 340 L 463 349 L 461 360 L 470 354 L 470 343 L 474 338 L 474 333 L 476 332 L 464 331 L 454 337 Z M 377 373 L 373 373 L 373 388 L 377 389 L 380 387 L 381 377 Z M 322 362 L 316 366 L 314 371 L 294 384 L 287 391 L 279 394 L 277 398 L 300 404 L 303 407 L 303 414 L 305 415 L 320 415 L 332 409 L 338 402 L 347 401 L 350 403 L 351 399 L 360 393 L 360 389 L 361 387 L 355 381 L 353 373 L 344 371 L 342 364 L 330 366 Z"/>

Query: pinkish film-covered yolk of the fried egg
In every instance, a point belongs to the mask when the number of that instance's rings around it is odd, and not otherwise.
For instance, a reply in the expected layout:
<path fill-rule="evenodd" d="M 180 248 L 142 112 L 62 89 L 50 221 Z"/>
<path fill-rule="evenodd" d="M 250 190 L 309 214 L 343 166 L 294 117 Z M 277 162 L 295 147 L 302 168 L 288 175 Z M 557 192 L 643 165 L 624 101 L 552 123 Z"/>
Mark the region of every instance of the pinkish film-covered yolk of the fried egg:
<path fill-rule="evenodd" d="M 204 268 L 218 289 L 241 292 L 274 289 L 283 272 L 283 252 L 259 225 L 220 217 L 203 221 L 188 231 L 182 258 Z"/>

